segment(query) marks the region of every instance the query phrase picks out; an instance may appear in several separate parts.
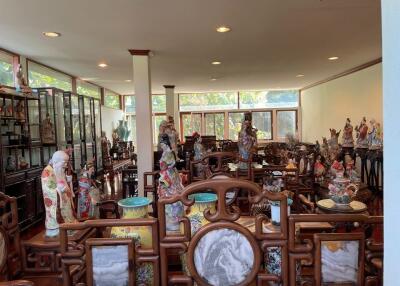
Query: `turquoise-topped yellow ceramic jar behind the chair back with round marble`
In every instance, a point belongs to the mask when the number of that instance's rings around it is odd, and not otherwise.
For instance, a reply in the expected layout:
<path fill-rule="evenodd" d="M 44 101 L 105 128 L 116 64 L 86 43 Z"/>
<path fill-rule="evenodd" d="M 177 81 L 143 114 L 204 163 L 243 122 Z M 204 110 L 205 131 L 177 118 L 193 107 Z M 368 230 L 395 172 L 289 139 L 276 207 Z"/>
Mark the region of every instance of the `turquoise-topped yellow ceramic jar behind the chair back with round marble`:
<path fill-rule="evenodd" d="M 194 204 L 190 207 L 187 213 L 187 218 L 190 220 L 190 230 L 192 237 L 196 232 L 209 223 L 204 217 L 204 211 L 210 209 L 211 213 L 216 212 L 217 195 L 211 193 L 197 193 L 189 196 L 190 199 L 194 199 Z M 183 229 L 181 230 L 183 233 Z M 181 255 L 183 271 L 186 274 L 190 274 L 187 268 L 187 253 Z"/>

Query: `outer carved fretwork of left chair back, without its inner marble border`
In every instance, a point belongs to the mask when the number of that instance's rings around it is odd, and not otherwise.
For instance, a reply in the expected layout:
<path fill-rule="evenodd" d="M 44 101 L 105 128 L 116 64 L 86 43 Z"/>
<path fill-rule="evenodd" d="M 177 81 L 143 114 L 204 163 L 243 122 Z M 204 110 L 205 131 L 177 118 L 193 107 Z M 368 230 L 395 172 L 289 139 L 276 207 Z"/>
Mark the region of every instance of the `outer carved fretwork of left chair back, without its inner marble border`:
<path fill-rule="evenodd" d="M 123 226 L 150 226 L 152 232 L 152 247 L 142 248 L 140 245 L 135 245 L 135 265 L 142 263 L 152 263 L 154 273 L 153 285 L 160 284 L 160 270 L 159 270 L 159 239 L 158 239 L 158 223 L 156 218 L 142 218 L 142 219 L 98 219 L 87 220 L 80 223 L 64 223 L 60 225 L 60 250 L 62 262 L 62 277 L 63 285 L 70 286 L 84 280 L 84 271 L 86 271 L 85 260 L 85 241 L 73 243 L 69 241 L 67 235 L 71 230 L 85 230 L 89 229 L 94 231 L 95 235 L 92 238 L 105 238 L 104 231 L 111 227 Z M 108 235 L 106 235 L 108 238 Z M 77 268 L 84 269 L 77 275 Z"/>

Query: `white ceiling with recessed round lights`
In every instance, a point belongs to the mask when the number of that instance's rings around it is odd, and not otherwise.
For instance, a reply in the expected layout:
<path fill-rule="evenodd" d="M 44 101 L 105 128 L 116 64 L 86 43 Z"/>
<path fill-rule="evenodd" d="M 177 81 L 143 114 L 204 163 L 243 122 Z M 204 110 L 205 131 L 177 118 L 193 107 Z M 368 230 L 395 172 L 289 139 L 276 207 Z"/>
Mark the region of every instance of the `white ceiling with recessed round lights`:
<path fill-rule="evenodd" d="M 154 93 L 299 88 L 382 54 L 380 0 L 0 0 L 0 11 L 0 47 L 122 94 L 128 49 L 154 52 Z"/>

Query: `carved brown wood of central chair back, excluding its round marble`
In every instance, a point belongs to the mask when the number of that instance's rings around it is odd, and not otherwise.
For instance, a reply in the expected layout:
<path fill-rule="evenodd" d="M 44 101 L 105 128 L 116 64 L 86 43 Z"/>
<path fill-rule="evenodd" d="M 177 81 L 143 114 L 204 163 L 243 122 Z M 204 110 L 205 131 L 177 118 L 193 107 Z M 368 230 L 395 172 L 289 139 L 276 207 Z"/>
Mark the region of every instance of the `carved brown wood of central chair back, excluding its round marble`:
<path fill-rule="evenodd" d="M 277 227 L 275 232 L 264 232 L 264 223 L 268 222 L 268 218 L 265 216 L 252 218 L 254 221 L 253 225 L 255 227 L 255 231 L 253 233 L 248 231 L 244 226 L 238 224 L 237 221 L 241 217 L 240 209 L 235 206 L 228 206 L 226 203 L 226 193 L 236 188 L 247 190 L 250 203 L 258 203 L 263 198 L 280 202 L 281 225 Z M 190 207 L 195 202 L 194 199 L 189 197 L 189 195 L 204 191 L 215 193 L 218 198 L 216 212 L 211 213 L 209 209 L 204 210 L 204 217 L 209 221 L 209 223 L 200 228 L 200 230 L 192 237 L 190 220 L 188 217 L 183 216 L 180 219 L 181 231 L 167 233 L 165 205 L 180 201 L 184 206 Z M 199 285 L 208 285 L 207 282 L 202 279 L 195 270 L 193 253 L 197 242 L 204 237 L 204 235 L 210 231 L 222 229 L 231 229 L 239 232 L 247 239 L 247 241 L 249 241 L 252 248 L 255 249 L 255 251 L 253 251 L 255 263 L 253 264 L 252 270 L 247 274 L 246 279 L 241 281 L 241 283 L 238 285 L 248 285 L 249 283 L 256 282 L 262 283 L 263 281 L 277 281 L 283 283 L 283 285 L 289 285 L 287 275 L 287 198 L 283 194 L 262 190 L 259 185 L 246 180 L 229 178 L 204 180 L 188 185 L 181 194 L 178 194 L 174 197 L 160 198 L 158 200 L 158 211 L 161 285 L 175 285 L 180 283 L 193 285 L 194 282 L 198 283 Z M 260 262 L 262 261 L 265 248 L 272 246 L 282 247 L 283 249 L 281 260 L 282 272 L 280 276 L 269 274 L 260 267 Z M 185 273 L 168 272 L 168 255 L 171 253 L 171 250 L 178 250 L 181 254 L 188 252 L 188 269 L 190 275 Z"/>

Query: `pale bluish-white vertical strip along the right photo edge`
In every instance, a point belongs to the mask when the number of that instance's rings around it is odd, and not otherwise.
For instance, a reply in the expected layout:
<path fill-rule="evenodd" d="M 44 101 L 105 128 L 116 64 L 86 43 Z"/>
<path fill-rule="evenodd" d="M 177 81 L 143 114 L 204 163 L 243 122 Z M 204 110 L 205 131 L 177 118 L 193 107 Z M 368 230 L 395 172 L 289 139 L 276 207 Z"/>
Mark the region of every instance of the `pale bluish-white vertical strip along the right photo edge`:
<path fill-rule="evenodd" d="M 399 284 L 400 218 L 399 162 L 400 162 L 400 1 L 383 0 L 382 5 L 382 51 L 383 51 L 383 146 L 384 146 L 384 282 Z"/>

